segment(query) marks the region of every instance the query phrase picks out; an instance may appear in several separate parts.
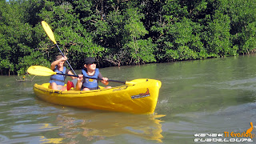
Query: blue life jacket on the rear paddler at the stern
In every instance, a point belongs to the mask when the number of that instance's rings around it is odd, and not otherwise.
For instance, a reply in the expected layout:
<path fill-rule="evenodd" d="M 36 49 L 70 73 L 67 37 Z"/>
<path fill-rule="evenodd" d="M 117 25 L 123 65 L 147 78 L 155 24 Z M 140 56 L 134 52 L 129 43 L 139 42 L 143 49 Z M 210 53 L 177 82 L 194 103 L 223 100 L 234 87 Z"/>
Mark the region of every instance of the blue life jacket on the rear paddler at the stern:
<path fill-rule="evenodd" d="M 57 66 L 55 66 L 54 72 L 66 74 L 66 67 L 64 66 L 63 70 L 59 71 L 57 69 Z M 66 75 L 54 74 L 50 77 L 50 83 L 55 82 L 57 85 L 64 86 L 65 79 L 66 79 Z"/>

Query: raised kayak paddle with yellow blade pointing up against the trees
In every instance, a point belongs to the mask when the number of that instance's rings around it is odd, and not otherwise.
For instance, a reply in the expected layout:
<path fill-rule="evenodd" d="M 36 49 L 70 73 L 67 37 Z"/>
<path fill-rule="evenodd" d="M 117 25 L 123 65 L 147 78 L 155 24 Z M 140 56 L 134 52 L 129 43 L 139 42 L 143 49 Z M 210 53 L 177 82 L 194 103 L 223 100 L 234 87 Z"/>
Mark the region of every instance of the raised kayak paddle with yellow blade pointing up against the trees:
<path fill-rule="evenodd" d="M 57 44 L 57 42 L 55 41 L 55 38 L 54 38 L 53 30 L 50 29 L 50 26 L 48 25 L 47 22 L 42 21 L 41 23 L 42 23 L 43 30 L 46 31 L 46 34 L 48 35 L 48 37 L 50 38 L 50 40 L 51 40 L 52 42 L 54 42 L 54 44 L 58 47 L 58 44 Z M 62 56 L 64 57 L 64 54 L 62 53 L 62 50 L 61 50 L 59 47 L 58 47 L 58 50 L 61 52 Z M 70 62 L 68 62 L 68 60 L 66 60 L 66 63 L 70 66 Z M 70 66 L 70 68 L 71 68 L 72 72 L 75 74 L 75 72 L 74 72 L 72 66 Z"/>

